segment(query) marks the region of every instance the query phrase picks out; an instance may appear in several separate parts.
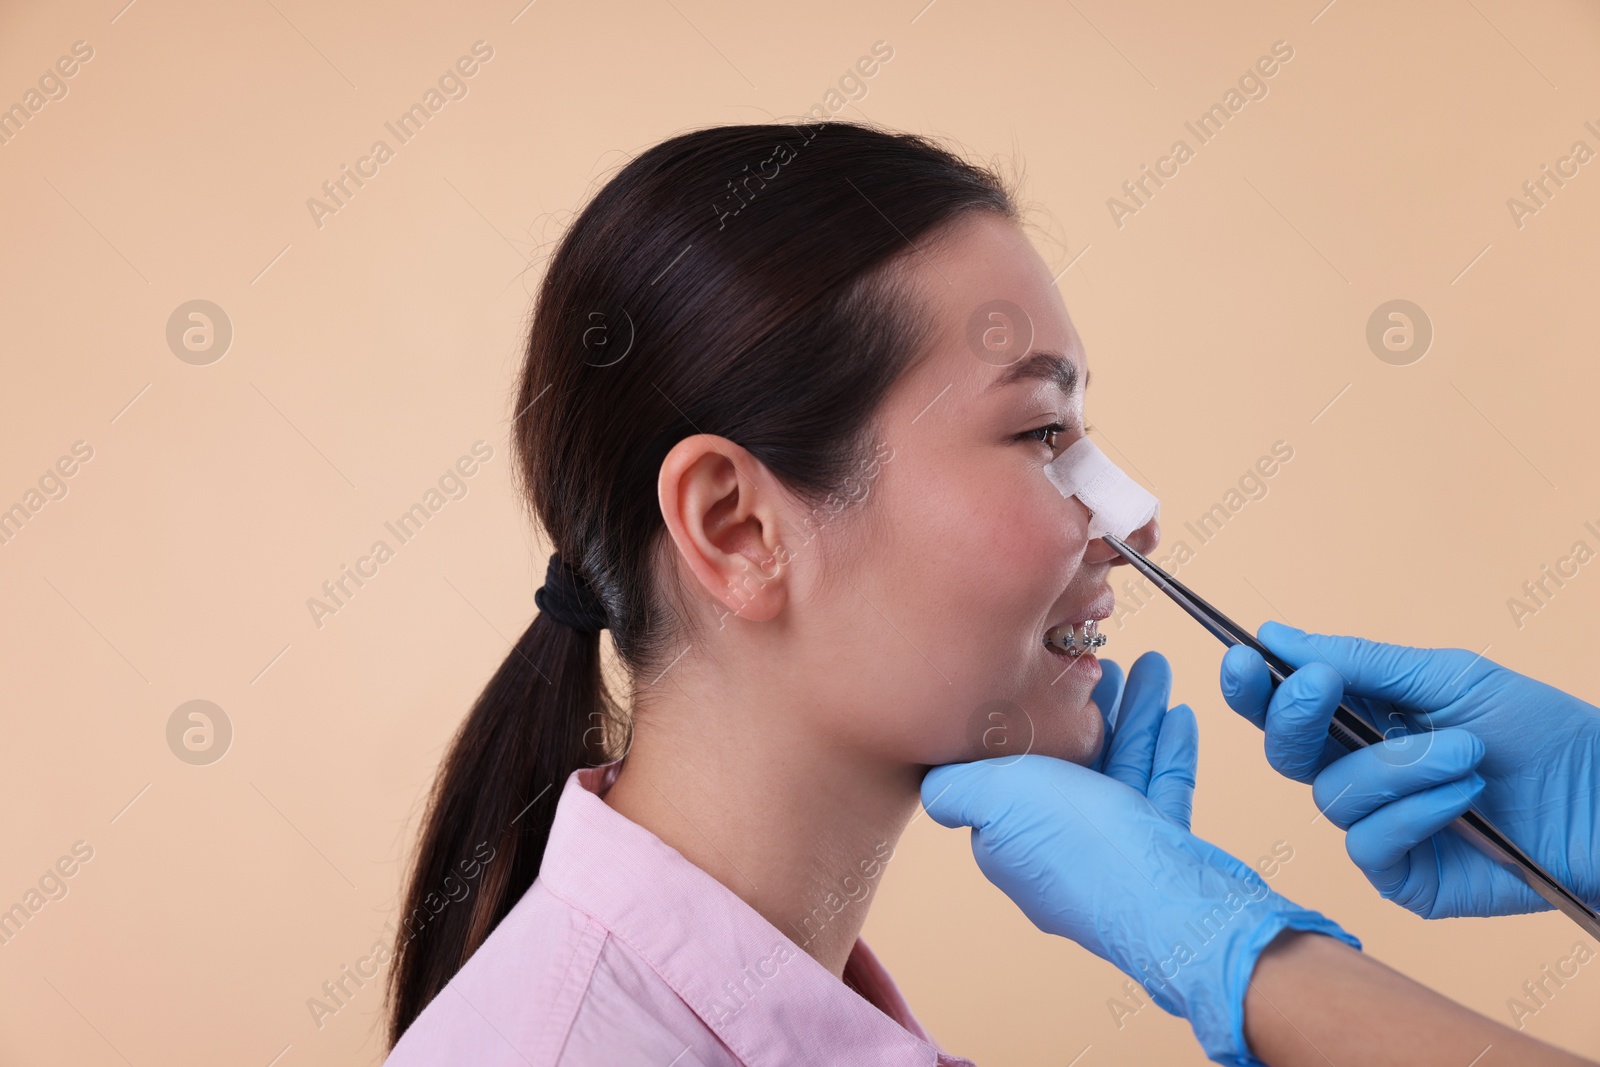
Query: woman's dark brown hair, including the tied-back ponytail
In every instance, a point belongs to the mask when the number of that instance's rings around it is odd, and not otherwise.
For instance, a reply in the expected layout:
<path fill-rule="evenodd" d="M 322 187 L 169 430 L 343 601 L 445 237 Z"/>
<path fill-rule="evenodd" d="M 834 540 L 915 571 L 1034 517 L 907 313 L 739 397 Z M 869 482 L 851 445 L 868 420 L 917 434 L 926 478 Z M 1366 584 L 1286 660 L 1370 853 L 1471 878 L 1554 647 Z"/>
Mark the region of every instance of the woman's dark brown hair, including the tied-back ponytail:
<path fill-rule="evenodd" d="M 515 467 L 634 678 L 685 641 L 680 590 L 656 573 L 667 451 L 718 434 L 797 499 L 829 498 L 931 326 L 893 264 L 974 210 L 1019 218 L 1005 179 L 926 138 L 802 123 L 675 136 L 573 221 L 539 285 Z M 438 769 L 395 936 L 390 1046 L 533 885 L 566 777 L 603 763 L 626 721 L 598 635 L 534 616 Z M 475 891 L 430 907 L 485 854 Z"/>

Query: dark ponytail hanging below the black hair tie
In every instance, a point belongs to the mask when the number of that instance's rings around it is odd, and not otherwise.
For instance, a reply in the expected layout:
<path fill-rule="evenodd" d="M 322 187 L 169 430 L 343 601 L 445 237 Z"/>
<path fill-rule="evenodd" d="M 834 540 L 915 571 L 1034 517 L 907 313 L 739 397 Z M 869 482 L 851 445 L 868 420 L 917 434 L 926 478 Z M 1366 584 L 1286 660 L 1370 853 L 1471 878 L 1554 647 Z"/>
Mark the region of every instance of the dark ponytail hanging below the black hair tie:
<path fill-rule="evenodd" d="M 533 885 L 568 776 L 605 760 L 610 707 L 600 635 L 536 614 L 434 782 L 395 931 L 390 1048 Z"/>

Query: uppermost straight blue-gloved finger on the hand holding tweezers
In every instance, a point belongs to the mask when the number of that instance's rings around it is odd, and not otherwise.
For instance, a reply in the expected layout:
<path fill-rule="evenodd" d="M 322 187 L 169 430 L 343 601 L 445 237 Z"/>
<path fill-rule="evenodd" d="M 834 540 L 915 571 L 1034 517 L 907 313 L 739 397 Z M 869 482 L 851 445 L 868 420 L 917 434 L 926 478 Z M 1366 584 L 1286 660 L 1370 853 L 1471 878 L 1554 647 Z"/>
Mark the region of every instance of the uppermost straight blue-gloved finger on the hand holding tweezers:
<path fill-rule="evenodd" d="M 1491 673 L 1498 664 L 1464 648 L 1411 648 L 1362 637 L 1307 633 L 1283 622 L 1262 622 L 1262 645 L 1299 667 L 1325 662 L 1344 688 L 1406 707 L 1437 712 Z"/>

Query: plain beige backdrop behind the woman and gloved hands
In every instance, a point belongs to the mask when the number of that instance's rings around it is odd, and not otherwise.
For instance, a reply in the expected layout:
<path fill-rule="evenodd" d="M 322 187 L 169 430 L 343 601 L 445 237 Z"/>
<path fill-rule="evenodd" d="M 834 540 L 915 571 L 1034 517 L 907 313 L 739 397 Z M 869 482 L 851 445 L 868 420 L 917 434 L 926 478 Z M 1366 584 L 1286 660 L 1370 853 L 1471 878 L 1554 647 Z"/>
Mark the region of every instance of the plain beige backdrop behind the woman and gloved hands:
<path fill-rule="evenodd" d="M 93 859 L 0 945 L 5 1064 L 379 1059 L 370 984 L 306 1006 L 397 910 L 440 750 L 533 613 L 544 555 L 507 478 L 507 390 L 541 256 L 672 133 L 797 115 L 877 40 L 848 117 L 1014 162 L 1090 350 L 1090 419 L 1163 499 L 1166 544 L 1274 442 L 1294 450 L 1181 576 L 1254 625 L 1485 649 L 1600 697 L 1600 563 L 1518 629 L 1507 598 L 1600 526 L 1600 163 L 1518 229 L 1506 206 L 1600 149 L 1592 5 L 578 5 L 307 0 L 0 6 L 0 104 L 93 48 L 0 144 L 0 507 L 93 459 L 0 545 L 0 904 Z M 1205 8 L 1205 10 L 1200 10 Z M 306 206 L 486 42 L 493 59 L 318 229 Z M 1294 58 L 1118 229 L 1141 163 L 1277 40 Z M 1395 366 L 1390 299 L 1432 320 Z M 186 301 L 234 339 L 170 350 Z M 483 440 L 494 458 L 318 629 L 306 600 Z M 1221 648 L 1165 603 L 1110 630 L 1173 662 L 1203 729 L 1195 829 L 1368 950 L 1509 1019 L 1568 955 L 1555 915 L 1424 923 L 1382 902 L 1222 704 Z M 232 723 L 168 749 L 186 701 Z M 1187 1025 L 1107 1006 L 1120 976 L 1032 931 L 965 833 L 918 819 L 867 939 L 981 1064 L 1200 1064 Z M 1600 1056 L 1600 965 L 1526 1021 Z M 1080 1059 L 1074 1061 L 1078 1056 Z M 277 1057 L 277 1059 L 275 1059 Z"/>

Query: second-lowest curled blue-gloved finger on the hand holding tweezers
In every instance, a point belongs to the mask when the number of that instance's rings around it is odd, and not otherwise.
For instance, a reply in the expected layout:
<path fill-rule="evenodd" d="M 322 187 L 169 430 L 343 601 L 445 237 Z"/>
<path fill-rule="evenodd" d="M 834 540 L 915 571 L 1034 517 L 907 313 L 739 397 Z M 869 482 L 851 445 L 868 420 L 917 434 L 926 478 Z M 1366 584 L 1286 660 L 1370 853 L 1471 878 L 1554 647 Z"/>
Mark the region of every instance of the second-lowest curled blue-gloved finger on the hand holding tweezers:
<path fill-rule="evenodd" d="M 1483 753 L 1483 741 L 1467 729 L 1382 741 L 1325 766 L 1310 795 L 1330 822 L 1349 829 L 1402 797 L 1466 777 Z"/>

